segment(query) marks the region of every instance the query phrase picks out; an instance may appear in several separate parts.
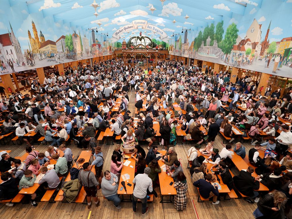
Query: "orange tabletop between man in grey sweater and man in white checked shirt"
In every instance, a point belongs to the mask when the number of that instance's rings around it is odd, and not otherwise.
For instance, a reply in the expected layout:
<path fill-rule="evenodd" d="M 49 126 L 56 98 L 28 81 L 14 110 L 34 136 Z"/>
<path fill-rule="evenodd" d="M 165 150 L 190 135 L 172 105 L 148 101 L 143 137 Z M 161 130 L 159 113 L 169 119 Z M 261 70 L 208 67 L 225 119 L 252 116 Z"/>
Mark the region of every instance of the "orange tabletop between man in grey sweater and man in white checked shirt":
<path fill-rule="evenodd" d="M 128 165 L 128 166 L 123 166 L 122 167 L 122 171 L 121 171 L 121 177 L 120 177 L 120 181 L 119 181 L 119 187 L 118 187 L 118 194 L 119 195 L 122 195 L 122 194 L 133 194 L 133 191 L 134 191 L 134 185 L 133 185 L 133 180 L 135 178 L 135 166 L 136 166 L 136 161 L 135 159 L 131 158 L 131 154 L 126 154 L 128 155 L 130 158 L 128 159 L 128 161 L 131 161 L 131 163 Z M 126 160 L 125 160 L 126 161 Z M 133 166 L 130 167 L 130 166 Z M 125 189 L 123 188 L 123 190 L 121 191 L 121 187 L 122 187 L 122 184 L 121 182 L 123 181 L 123 178 L 122 178 L 122 175 L 123 174 L 128 174 L 130 176 L 130 179 L 128 180 L 125 180 L 125 185 L 126 185 L 126 190 L 127 192 L 125 191 Z M 132 184 L 132 186 L 128 186 L 127 183 L 130 183 Z"/>

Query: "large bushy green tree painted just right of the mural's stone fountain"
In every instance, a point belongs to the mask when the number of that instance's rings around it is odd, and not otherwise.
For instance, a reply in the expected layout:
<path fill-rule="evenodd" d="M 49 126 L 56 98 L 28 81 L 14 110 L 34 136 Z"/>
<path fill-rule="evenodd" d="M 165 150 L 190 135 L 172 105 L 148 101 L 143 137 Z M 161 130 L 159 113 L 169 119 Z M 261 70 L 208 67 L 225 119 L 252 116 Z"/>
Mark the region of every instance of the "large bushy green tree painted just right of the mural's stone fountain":
<path fill-rule="evenodd" d="M 227 27 L 224 39 L 220 43 L 220 48 L 222 49 L 223 53 L 226 54 L 226 57 L 228 54 L 230 54 L 233 45 L 236 43 L 237 37 L 238 37 L 237 26 L 236 24 L 232 23 Z"/>

